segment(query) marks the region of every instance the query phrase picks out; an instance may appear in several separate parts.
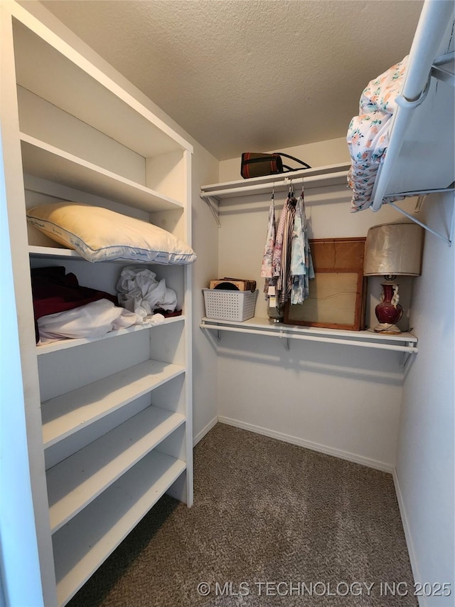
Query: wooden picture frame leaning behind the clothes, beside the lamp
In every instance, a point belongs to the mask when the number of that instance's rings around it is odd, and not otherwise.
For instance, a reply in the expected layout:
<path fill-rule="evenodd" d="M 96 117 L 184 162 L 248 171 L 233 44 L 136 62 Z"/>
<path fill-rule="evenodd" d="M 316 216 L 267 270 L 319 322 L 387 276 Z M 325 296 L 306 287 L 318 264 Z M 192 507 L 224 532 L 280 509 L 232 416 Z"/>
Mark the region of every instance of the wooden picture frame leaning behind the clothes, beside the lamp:
<path fill-rule="evenodd" d="M 363 257 L 366 238 L 314 238 L 310 240 L 314 280 L 309 299 L 284 307 L 285 324 L 306 327 L 365 328 L 366 278 Z"/>

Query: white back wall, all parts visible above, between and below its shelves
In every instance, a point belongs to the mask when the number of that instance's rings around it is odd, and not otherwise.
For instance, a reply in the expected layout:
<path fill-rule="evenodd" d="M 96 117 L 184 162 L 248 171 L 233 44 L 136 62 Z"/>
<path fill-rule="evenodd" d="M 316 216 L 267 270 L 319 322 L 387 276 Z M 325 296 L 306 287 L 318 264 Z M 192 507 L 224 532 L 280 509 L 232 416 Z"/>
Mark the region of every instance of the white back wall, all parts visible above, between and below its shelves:
<path fill-rule="evenodd" d="M 312 167 L 347 162 L 344 139 L 289 150 Z M 346 156 L 348 158 L 346 158 Z M 220 162 L 220 174 L 238 179 L 240 159 Z M 277 210 L 285 194 L 275 196 Z M 387 207 L 350 213 L 350 190 L 333 186 L 306 191 L 306 215 L 312 238 L 366 236 L 368 228 L 402 221 Z M 260 278 L 267 231 L 269 194 L 223 199 L 220 210 L 218 277 Z M 407 202 L 412 208 L 412 201 Z M 278 213 L 277 213 L 278 216 Z M 412 281 L 402 281 L 402 303 Z M 380 293 L 380 278 L 370 279 L 368 319 Z M 406 289 L 407 287 L 407 289 Z M 267 317 L 259 292 L 256 315 Z M 405 317 L 402 326 L 407 328 Z M 218 348 L 220 419 L 269 433 L 293 443 L 353 459 L 383 470 L 395 465 L 403 369 L 396 353 L 291 340 L 287 352 L 279 339 L 221 334 Z"/>

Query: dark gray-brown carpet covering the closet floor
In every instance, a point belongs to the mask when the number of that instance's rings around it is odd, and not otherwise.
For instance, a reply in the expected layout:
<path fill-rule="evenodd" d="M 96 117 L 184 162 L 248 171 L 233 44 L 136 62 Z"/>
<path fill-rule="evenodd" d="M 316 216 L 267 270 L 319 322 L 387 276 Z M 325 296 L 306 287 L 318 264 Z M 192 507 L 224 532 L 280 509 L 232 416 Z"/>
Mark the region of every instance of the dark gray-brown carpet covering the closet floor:
<path fill-rule="evenodd" d="M 391 475 L 221 423 L 194 462 L 70 607 L 417 607 Z"/>

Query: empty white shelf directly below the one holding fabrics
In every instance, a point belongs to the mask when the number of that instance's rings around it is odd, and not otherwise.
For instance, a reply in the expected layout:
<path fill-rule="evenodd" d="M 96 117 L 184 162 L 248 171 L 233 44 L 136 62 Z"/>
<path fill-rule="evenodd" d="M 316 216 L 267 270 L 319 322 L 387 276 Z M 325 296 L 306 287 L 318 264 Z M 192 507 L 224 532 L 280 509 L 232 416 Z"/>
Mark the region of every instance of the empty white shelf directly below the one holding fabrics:
<path fill-rule="evenodd" d="M 184 372 L 183 366 L 148 360 L 44 401 L 41 403 L 44 448 L 59 443 Z"/>

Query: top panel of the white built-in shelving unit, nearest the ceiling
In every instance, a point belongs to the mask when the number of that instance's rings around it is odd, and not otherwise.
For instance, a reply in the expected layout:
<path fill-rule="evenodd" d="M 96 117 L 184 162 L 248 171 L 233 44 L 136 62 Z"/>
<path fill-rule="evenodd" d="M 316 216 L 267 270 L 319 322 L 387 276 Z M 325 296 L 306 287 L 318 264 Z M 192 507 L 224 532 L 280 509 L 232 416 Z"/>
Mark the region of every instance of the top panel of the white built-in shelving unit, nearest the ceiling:
<path fill-rule="evenodd" d="M 144 158 L 191 144 L 25 9 L 4 3 L 16 21 L 16 80 L 23 88 L 107 134 Z"/>

